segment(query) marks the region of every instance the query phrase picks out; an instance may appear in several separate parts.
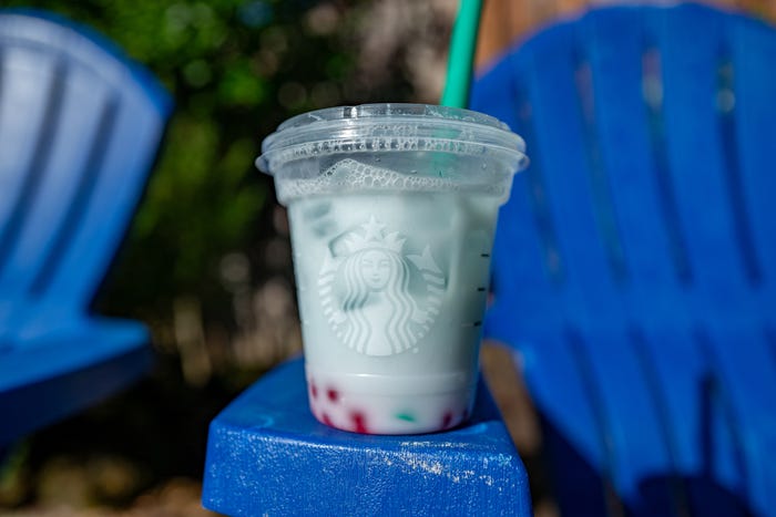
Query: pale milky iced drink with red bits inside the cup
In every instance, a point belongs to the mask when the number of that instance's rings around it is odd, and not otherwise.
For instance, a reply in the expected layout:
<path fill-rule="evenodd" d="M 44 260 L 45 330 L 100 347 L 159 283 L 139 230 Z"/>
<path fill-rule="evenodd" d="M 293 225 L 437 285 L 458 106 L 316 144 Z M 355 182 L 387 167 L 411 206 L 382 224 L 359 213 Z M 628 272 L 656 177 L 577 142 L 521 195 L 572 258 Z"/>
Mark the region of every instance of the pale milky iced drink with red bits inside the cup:
<path fill-rule="evenodd" d="M 396 174 L 345 159 L 314 182 L 365 173 L 372 185 Z M 418 433 L 470 411 L 498 203 L 425 183 L 323 196 L 305 185 L 289 204 L 310 406 L 335 427 Z"/>

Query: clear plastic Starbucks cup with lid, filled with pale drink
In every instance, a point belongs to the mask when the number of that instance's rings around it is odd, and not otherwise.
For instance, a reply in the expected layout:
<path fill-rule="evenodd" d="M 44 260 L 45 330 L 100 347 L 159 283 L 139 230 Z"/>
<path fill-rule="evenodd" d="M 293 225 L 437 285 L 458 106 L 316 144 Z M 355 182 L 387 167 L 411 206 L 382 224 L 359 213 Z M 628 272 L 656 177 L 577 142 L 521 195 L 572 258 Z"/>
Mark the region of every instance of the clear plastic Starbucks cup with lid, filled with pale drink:
<path fill-rule="evenodd" d="M 369 104 L 295 116 L 262 151 L 288 207 L 315 417 L 370 434 L 466 421 L 523 141 L 468 110 Z"/>

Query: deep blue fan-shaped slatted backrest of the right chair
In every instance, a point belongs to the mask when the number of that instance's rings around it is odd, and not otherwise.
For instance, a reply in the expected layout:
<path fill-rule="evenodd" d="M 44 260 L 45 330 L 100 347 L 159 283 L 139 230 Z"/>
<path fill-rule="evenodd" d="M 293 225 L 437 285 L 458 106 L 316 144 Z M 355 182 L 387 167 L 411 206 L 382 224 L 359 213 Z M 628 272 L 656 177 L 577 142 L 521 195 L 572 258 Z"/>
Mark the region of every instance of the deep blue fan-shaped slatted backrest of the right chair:
<path fill-rule="evenodd" d="M 623 6 L 488 71 L 472 107 L 523 135 L 532 164 L 501 214 L 487 331 L 773 321 L 774 63 L 765 23 Z"/>

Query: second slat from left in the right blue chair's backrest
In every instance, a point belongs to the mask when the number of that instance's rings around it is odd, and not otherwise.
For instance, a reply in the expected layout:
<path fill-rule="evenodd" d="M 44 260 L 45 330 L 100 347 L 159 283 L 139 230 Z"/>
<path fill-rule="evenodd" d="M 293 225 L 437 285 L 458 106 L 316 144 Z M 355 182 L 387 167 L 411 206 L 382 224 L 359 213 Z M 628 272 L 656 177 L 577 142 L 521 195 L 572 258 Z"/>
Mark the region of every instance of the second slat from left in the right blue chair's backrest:
<path fill-rule="evenodd" d="M 614 317 L 622 307 L 615 301 L 605 236 L 595 219 L 591 167 L 599 162 L 590 155 L 589 127 L 582 120 L 576 44 L 576 32 L 569 27 L 552 29 L 528 43 L 525 81 L 537 135 L 534 152 L 542 157 L 560 255 L 568 257 L 562 307 L 574 324 L 584 327 L 601 314 Z"/>

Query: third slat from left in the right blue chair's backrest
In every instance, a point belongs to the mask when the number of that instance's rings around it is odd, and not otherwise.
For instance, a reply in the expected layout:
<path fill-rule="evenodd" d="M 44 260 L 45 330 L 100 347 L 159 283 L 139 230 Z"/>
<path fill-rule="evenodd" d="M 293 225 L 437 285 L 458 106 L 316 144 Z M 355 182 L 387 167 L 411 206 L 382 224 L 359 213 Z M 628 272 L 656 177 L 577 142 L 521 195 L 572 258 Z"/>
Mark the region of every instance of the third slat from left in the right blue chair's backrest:
<path fill-rule="evenodd" d="M 622 242 L 625 279 L 620 290 L 641 322 L 664 322 L 676 317 L 681 273 L 657 184 L 655 151 L 662 142 L 652 127 L 650 103 L 660 95 L 660 76 L 651 70 L 656 55 L 643 15 L 633 8 L 600 11 L 580 31 L 592 68 L 596 133 Z"/>

